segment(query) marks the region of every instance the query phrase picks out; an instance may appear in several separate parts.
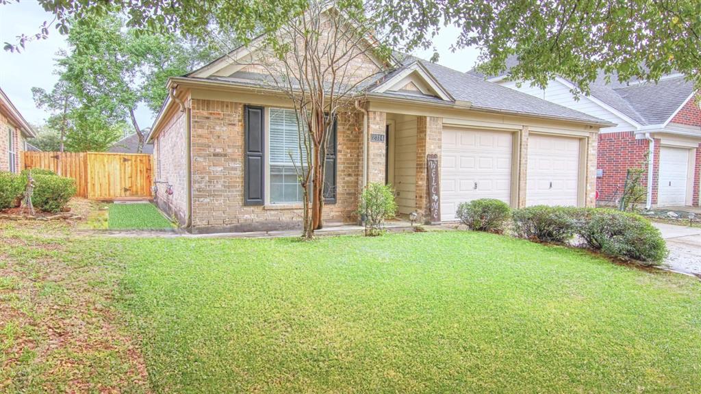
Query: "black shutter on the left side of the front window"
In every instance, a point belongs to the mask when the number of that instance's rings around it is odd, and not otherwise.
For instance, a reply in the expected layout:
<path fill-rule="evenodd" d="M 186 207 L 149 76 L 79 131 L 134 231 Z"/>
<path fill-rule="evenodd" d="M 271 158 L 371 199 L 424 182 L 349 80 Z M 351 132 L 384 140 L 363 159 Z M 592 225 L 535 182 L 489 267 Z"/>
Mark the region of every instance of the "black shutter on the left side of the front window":
<path fill-rule="evenodd" d="M 265 203 L 264 108 L 245 106 L 243 110 L 244 163 L 243 205 Z"/>

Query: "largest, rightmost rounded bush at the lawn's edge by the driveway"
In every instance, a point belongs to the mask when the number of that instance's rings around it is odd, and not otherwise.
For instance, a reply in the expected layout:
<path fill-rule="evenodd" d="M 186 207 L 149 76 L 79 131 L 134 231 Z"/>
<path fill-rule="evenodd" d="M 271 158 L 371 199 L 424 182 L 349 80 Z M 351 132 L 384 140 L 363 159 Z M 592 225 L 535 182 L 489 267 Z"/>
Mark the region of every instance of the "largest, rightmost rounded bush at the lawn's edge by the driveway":
<path fill-rule="evenodd" d="M 658 265 L 667 257 L 660 231 L 640 215 L 611 209 L 590 209 L 578 226 L 588 247 L 620 259 Z"/>

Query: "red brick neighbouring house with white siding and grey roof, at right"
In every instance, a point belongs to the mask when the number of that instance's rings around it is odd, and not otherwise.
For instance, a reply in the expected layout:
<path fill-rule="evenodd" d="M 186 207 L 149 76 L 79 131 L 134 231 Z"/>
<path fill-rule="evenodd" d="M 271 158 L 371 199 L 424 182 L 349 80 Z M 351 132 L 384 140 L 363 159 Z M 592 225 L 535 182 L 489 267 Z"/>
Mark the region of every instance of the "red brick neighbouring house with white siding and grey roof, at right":
<path fill-rule="evenodd" d="M 515 64 L 510 57 L 507 66 Z M 482 76 L 470 72 L 475 76 Z M 483 76 L 482 76 L 483 77 Z M 540 89 L 510 81 L 508 72 L 487 81 L 543 98 L 615 126 L 599 133 L 597 191 L 599 203 L 617 203 L 629 168 L 646 167 L 646 206 L 699 206 L 701 182 L 701 102 L 693 83 L 681 74 L 662 77 L 658 83 L 604 81 L 590 86 L 590 95 L 576 100 L 570 81 L 556 78 Z"/>

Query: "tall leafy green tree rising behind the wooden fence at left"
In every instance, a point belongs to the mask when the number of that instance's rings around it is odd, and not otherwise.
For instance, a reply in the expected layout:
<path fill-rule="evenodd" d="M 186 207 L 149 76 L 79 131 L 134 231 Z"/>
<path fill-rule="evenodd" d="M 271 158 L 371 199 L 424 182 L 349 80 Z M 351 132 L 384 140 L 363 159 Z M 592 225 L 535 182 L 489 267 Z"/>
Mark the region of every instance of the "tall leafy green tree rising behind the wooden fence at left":
<path fill-rule="evenodd" d="M 116 15 L 77 20 L 67 41 L 69 50 L 57 60 L 60 85 L 67 85 L 82 107 L 90 107 L 95 113 L 91 119 L 99 113 L 109 124 L 130 124 L 139 137 L 139 152 L 146 135 L 135 115 L 137 107 L 145 104 L 158 111 L 168 94 L 168 77 L 182 75 L 210 57 L 207 46 L 196 49 L 172 34 L 128 29 Z"/>

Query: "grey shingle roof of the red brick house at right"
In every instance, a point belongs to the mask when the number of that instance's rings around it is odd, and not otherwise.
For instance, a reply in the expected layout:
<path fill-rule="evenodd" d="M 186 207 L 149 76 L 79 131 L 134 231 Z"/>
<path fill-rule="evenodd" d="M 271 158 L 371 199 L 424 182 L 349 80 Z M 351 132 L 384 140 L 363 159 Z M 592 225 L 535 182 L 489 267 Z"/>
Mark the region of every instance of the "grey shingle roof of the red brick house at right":
<path fill-rule="evenodd" d="M 509 69 L 518 64 L 517 57 L 512 55 L 506 61 L 503 72 L 495 76 L 485 76 L 475 69 L 467 74 L 489 81 L 499 81 L 509 74 Z M 563 79 L 574 86 L 574 83 Z M 627 82 L 618 81 L 615 76 L 610 82 L 606 81 L 604 72 L 599 71 L 596 81 L 589 86 L 590 96 L 608 105 L 639 123 L 639 125 L 658 125 L 669 121 L 681 106 L 694 93 L 694 84 L 687 81 L 681 74 L 667 74 L 658 82 L 632 79 Z"/>

